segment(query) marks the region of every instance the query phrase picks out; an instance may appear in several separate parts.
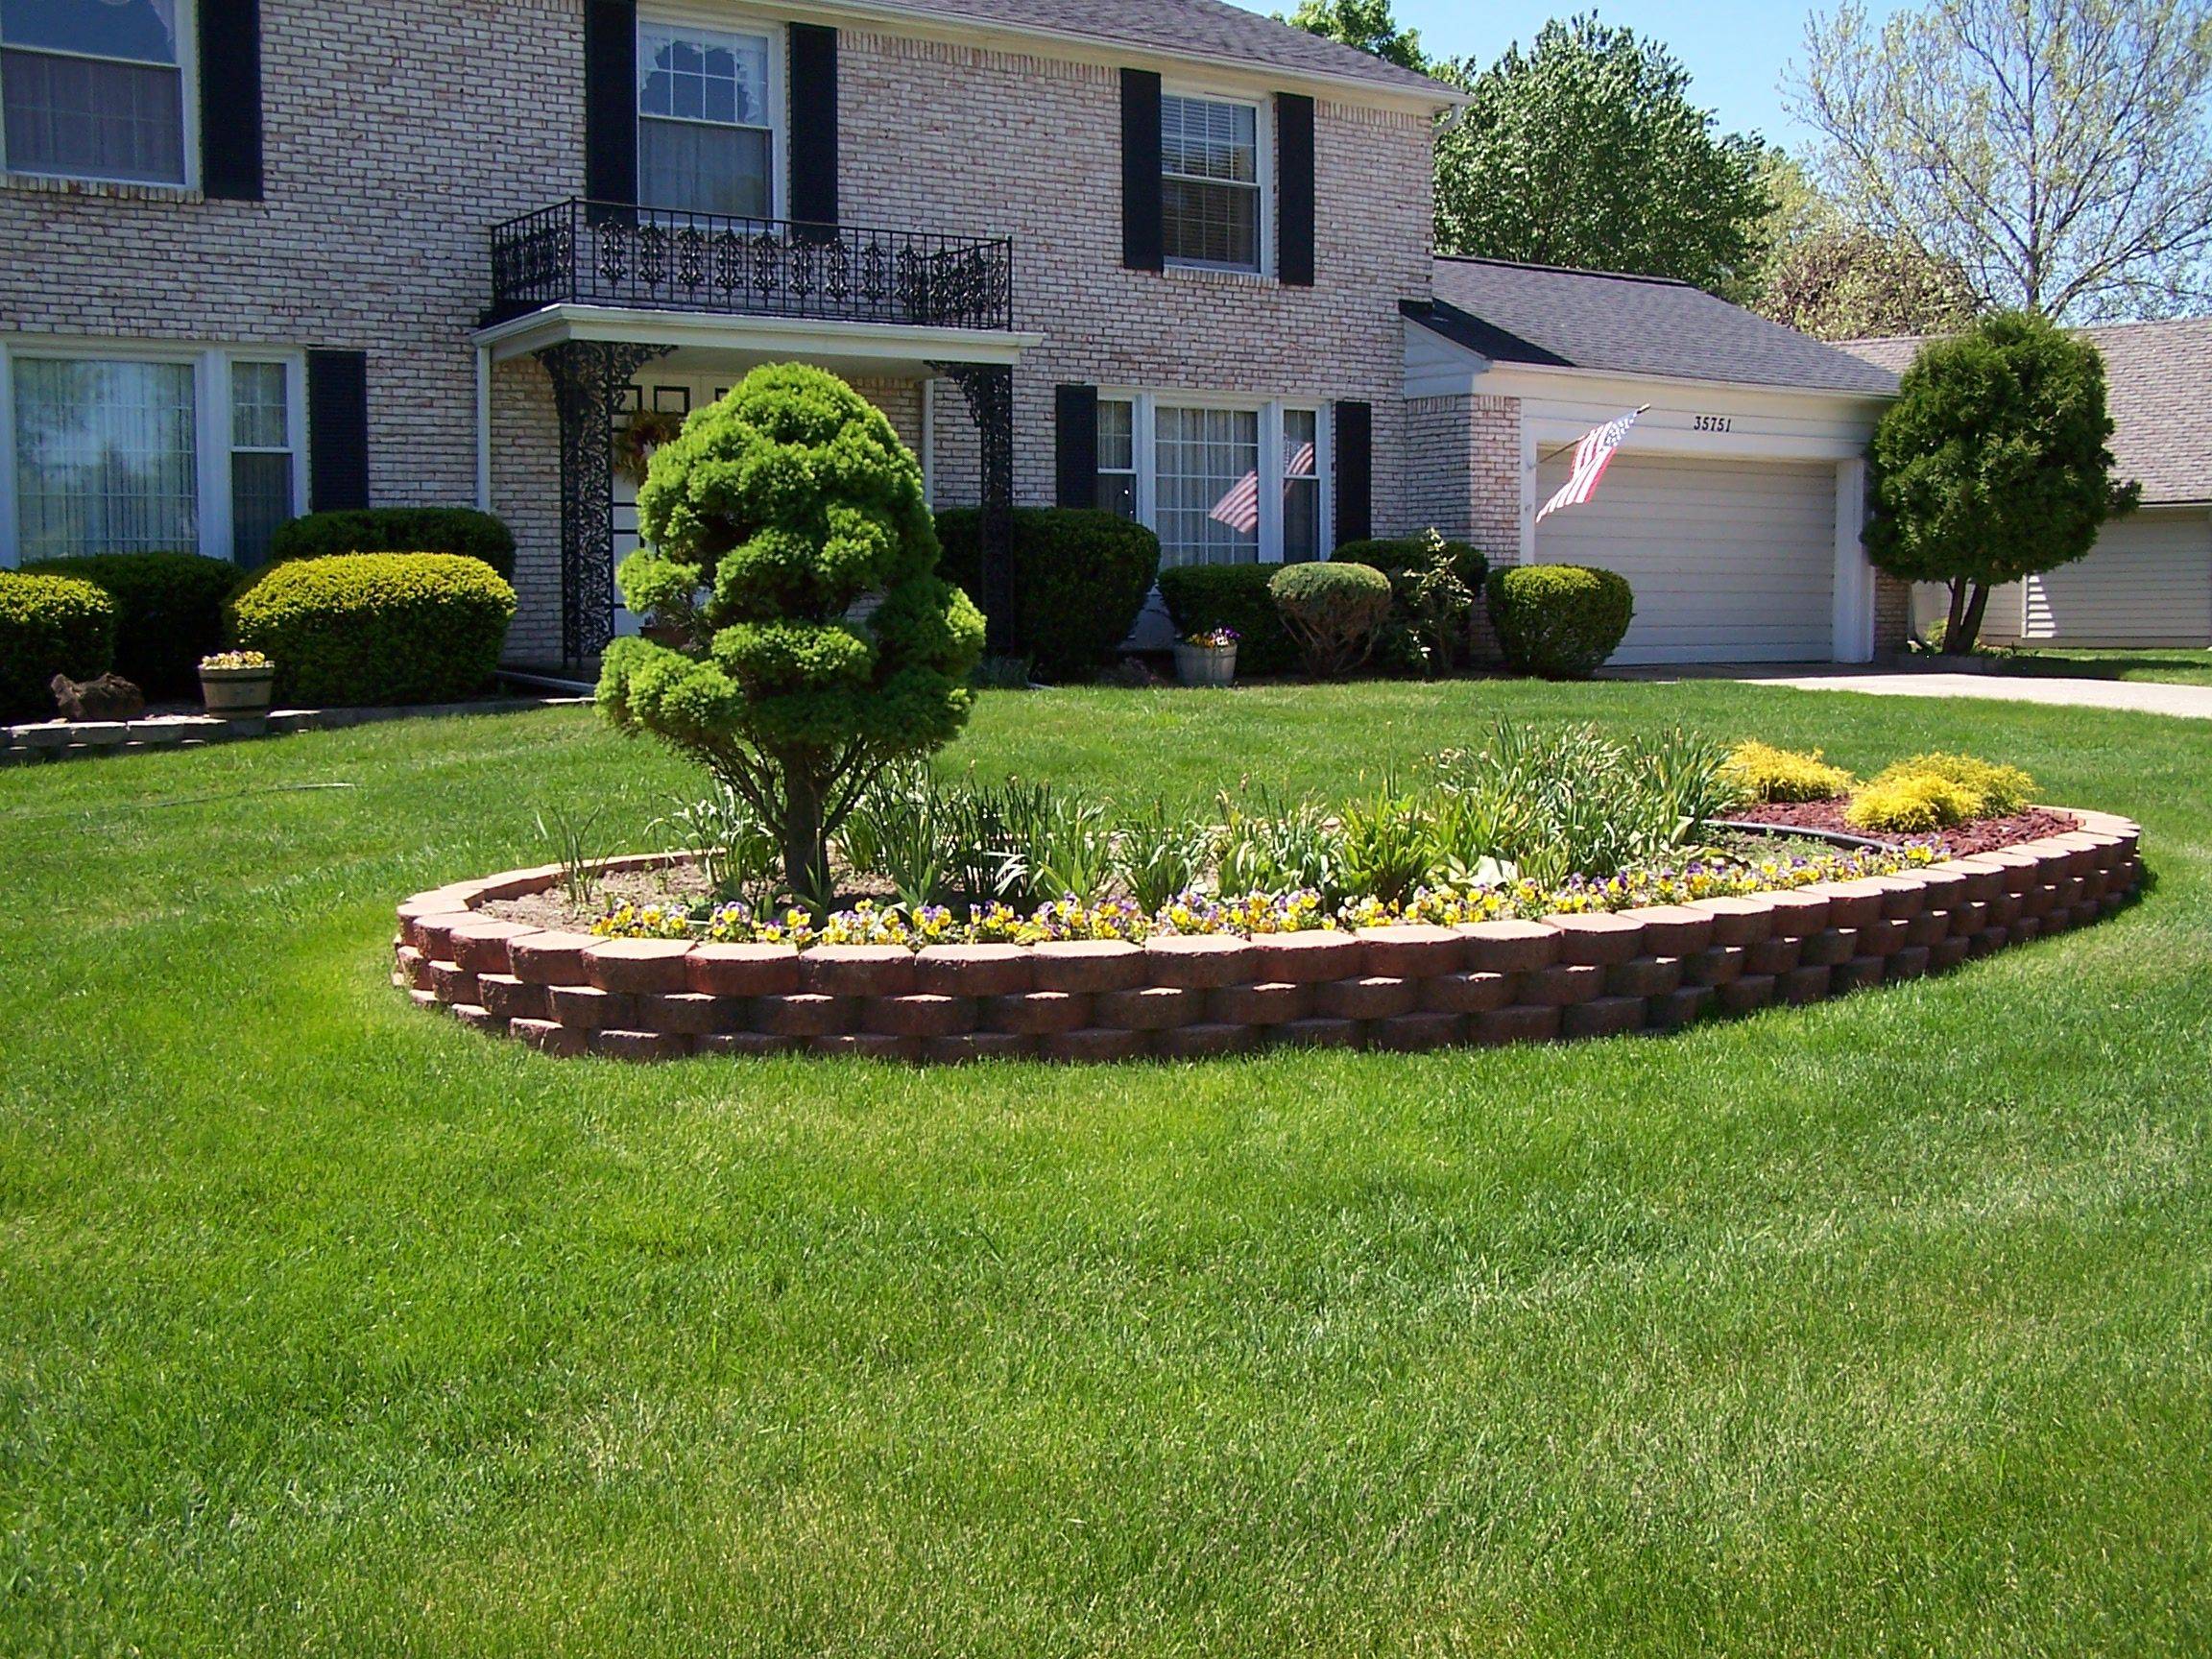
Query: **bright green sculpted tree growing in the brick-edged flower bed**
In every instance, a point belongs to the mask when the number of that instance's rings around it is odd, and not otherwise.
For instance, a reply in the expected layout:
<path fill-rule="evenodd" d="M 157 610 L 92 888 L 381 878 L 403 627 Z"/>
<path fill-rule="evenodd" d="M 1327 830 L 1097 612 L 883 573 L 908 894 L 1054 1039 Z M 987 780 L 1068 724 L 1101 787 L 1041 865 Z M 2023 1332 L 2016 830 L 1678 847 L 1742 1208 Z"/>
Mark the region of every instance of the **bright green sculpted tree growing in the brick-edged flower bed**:
<path fill-rule="evenodd" d="M 922 469 L 858 392 L 781 363 L 655 451 L 637 522 L 650 551 L 622 562 L 622 597 L 672 644 L 613 641 L 599 708 L 728 783 L 792 891 L 827 894 L 858 794 L 949 743 L 973 701 L 982 615 L 936 575 Z"/>

